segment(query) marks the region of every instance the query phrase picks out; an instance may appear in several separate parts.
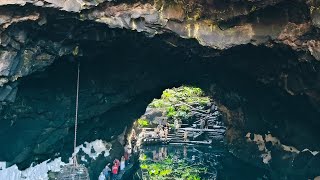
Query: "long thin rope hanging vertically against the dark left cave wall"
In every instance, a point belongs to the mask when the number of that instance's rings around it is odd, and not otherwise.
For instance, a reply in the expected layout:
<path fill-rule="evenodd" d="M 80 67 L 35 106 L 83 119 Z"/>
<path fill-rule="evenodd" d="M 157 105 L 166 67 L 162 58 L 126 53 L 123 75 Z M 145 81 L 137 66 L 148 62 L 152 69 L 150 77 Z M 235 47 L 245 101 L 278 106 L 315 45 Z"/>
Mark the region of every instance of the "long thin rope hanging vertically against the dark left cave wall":
<path fill-rule="evenodd" d="M 73 141 L 73 152 L 74 153 L 76 152 L 76 147 L 77 147 L 79 86 L 80 86 L 80 63 L 78 63 L 78 74 L 77 74 L 76 116 L 75 116 L 75 121 L 74 121 L 74 141 Z M 73 157 L 73 165 L 78 166 L 76 154 Z"/>

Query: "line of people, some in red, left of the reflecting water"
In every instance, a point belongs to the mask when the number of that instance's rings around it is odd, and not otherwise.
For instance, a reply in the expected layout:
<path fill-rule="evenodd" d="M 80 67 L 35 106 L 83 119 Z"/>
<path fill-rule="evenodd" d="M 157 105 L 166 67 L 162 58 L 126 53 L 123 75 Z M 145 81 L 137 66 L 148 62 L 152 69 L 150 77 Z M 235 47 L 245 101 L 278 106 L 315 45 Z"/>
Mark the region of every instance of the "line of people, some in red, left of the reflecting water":
<path fill-rule="evenodd" d="M 102 170 L 99 175 L 99 180 L 116 180 L 118 179 L 118 175 L 121 171 L 125 170 L 126 165 L 129 164 L 130 156 L 132 150 L 129 145 L 124 147 L 124 155 L 121 159 L 115 159 L 113 161 L 112 169 L 110 169 L 110 163 L 106 165 L 106 167 Z"/>

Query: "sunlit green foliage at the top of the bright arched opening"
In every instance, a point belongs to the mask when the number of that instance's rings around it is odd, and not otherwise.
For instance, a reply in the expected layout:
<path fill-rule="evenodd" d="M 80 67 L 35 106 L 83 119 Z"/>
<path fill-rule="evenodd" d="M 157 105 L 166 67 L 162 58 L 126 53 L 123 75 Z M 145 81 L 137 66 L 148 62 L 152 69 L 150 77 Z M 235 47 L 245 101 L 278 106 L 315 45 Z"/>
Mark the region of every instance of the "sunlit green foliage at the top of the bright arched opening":
<path fill-rule="evenodd" d="M 154 99 L 149 107 L 165 110 L 169 121 L 172 121 L 188 119 L 188 113 L 193 107 L 207 106 L 210 101 L 210 98 L 206 97 L 200 88 L 182 86 L 164 90 L 161 98 Z"/>

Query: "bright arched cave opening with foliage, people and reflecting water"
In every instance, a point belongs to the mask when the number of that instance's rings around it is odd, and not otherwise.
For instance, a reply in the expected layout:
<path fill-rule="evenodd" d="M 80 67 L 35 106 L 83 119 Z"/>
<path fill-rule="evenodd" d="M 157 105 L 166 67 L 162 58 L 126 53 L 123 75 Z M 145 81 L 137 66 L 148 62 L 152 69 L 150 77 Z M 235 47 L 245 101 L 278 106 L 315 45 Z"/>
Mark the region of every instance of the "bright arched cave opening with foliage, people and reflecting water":
<path fill-rule="evenodd" d="M 263 177 L 226 149 L 226 127 L 217 103 L 200 88 L 166 89 L 134 122 L 128 144 L 139 156 L 136 179 L 235 179 Z M 134 157 L 133 157 L 134 158 Z"/>

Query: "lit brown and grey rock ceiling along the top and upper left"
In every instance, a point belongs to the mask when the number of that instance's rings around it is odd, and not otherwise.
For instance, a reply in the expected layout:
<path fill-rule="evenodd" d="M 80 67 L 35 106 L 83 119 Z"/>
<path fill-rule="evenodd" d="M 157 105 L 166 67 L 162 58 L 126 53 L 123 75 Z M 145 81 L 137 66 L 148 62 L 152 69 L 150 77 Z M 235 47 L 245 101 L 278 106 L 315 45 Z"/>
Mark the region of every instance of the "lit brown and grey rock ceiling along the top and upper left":
<path fill-rule="evenodd" d="M 173 33 L 182 38 L 196 39 L 202 46 L 220 52 L 244 44 L 280 45 L 295 51 L 299 56 L 298 62 L 319 60 L 318 1 L 6 0 L 1 2 L 0 8 L 2 86 L 43 69 L 57 57 L 72 54 L 76 42 L 67 46 L 65 40 L 77 38 L 79 30 L 75 21 L 78 20 L 145 32 L 147 36 Z M 38 26 L 35 29 L 41 29 L 50 16 L 73 19 L 66 23 L 65 32 L 60 32 L 65 33 L 64 38 L 55 39 L 53 34 L 50 35 L 53 37 L 40 38 L 33 35 L 33 30 L 27 33 L 25 28 L 11 27 L 12 24 L 28 22 Z M 175 42 L 168 43 L 177 46 Z M 283 73 L 281 78 L 283 81 L 296 79 L 295 75 L 287 73 Z M 286 87 L 283 83 L 283 88 L 291 94 L 307 89 L 304 93 L 318 101 L 318 92 L 313 90 L 318 79 L 308 85 L 307 80 L 299 78 L 300 87 Z M 10 89 L 15 89 L 15 85 L 4 87 L 5 95 L 1 100 L 6 96 L 12 99 L 14 92 L 10 96 Z"/>

